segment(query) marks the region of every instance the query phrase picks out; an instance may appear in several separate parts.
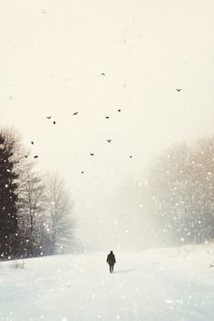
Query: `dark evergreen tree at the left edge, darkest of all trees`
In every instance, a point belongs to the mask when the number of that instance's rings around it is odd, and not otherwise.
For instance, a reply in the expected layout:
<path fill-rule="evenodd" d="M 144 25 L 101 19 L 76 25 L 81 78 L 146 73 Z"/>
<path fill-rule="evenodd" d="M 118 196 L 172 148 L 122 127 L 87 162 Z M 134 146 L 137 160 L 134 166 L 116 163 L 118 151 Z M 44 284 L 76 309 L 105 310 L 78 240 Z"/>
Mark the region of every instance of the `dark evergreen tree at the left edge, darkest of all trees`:
<path fill-rule="evenodd" d="M 15 258 L 18 248 L 17 183 L 14 144 L 0 132 L 0 256 Z"/>

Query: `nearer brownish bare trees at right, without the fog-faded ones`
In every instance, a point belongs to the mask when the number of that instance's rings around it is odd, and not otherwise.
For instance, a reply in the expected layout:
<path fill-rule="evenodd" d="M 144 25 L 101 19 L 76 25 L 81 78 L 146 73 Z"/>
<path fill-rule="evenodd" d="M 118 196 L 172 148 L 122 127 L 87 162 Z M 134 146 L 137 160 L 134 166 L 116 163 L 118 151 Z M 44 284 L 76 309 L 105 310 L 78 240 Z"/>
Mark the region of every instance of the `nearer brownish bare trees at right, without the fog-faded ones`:
<path fill-rule="evenodd" d="M 177 144 L 153 164 L 145 210 L 174 244 L 214 238 L 214 137 Z"/>

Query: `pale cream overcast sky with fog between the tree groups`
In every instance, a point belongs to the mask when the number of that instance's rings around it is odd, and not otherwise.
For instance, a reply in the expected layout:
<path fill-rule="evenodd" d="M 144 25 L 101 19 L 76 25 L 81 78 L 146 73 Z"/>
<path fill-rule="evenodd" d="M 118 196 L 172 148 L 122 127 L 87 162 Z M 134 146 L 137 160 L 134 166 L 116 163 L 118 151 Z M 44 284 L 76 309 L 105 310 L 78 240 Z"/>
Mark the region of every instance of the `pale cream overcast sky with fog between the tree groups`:
<path fill-rule="evenodd" d="M 213 134 L 213 16 L 212 0 L 1 1 L 0 124 L 66 180 L 89 245 L 152 157 Z"/>

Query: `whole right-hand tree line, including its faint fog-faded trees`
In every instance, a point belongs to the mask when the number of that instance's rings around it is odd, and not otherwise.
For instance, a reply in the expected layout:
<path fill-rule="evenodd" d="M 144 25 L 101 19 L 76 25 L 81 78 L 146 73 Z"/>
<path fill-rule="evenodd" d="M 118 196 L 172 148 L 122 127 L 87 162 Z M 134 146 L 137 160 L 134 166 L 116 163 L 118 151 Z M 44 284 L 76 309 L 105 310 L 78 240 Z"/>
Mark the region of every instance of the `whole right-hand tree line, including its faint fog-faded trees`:
<path fill-rule="evenodd" d="M 112 212 L 113 234 L 126 247 L 213 239 L 214 137 L 177 143 L 163 151 L 141 180 L 121 187 Z"/>

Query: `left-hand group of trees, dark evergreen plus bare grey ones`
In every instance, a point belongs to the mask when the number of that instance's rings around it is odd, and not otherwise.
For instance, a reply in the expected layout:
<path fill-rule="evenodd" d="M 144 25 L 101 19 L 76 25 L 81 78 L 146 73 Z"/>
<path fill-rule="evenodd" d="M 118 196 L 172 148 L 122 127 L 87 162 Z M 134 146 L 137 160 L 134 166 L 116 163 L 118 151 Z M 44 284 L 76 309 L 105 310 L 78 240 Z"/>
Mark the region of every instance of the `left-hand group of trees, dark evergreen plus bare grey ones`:
<path fill-rule="evenodd" d="M 0 256 L 28 258 L 69 250 L 73 203 L 63 180 L 42 175 L 19 134 L 0 131 Z"/>

